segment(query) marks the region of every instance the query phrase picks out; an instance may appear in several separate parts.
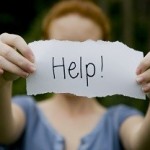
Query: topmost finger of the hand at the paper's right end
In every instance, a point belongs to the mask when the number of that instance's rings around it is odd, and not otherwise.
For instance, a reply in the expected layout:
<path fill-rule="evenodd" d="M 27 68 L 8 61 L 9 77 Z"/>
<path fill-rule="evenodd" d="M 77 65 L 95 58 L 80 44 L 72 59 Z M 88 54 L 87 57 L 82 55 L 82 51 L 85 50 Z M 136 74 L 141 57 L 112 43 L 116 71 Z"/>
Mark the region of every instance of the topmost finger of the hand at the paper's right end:
<path fill-rule="evenodd" d="M 137 67 L 136 74 L 139 75 L 150 68 L 150 52 L 143 58 Z"/>

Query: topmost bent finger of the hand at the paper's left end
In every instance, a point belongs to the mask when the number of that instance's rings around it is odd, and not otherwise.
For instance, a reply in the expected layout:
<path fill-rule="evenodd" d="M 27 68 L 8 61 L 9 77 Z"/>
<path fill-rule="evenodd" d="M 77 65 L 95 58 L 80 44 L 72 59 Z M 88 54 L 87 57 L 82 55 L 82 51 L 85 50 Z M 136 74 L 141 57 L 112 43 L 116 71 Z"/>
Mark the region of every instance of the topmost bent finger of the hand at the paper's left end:
<path fill-rule="evenodd" d="M 31 62 L 34 62 L 34 55 L 21 36 L 3 33 L 0 35 L 0 41 L 15 47 L 25 58 L 29 59 Z"/>

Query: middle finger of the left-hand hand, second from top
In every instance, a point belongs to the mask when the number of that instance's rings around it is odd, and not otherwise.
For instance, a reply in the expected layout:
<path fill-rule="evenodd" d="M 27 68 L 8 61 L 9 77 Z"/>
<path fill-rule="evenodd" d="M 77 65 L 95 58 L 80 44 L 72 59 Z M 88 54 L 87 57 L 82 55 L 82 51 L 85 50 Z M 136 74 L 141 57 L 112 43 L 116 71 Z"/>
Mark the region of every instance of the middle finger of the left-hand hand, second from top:
<path fill-rule="evenodd" d="M 31 73 L 35 71 L 35 66 L 33 63 L 31 63 L 28 59 L 23 57 L 21 54 L 19 54 L 16 50 L 14 50 L 12 47 L 0 43 L 1 49 L 0 49 L 0 55 L 3 56 L 8 61 L 12 62 L 13 64 L 17 65 L 21 69 Z"/>

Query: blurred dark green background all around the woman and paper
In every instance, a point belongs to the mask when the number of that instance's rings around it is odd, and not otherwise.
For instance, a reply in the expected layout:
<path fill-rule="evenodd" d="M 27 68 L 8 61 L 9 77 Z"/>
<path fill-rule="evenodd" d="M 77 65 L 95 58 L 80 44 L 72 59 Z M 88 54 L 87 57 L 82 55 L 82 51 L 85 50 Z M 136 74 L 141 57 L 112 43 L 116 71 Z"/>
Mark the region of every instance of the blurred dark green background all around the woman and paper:
<path fill-rule="evenodd" d="M 41 37 L 43 15 L 58 0 L 5 0 L 0 4 L 0 34 L 19 34 L 27 43 Z M 95 0 L 110 19 L 111 41 L 120 41 L 135 50 L 148 53 L 150 49 L 150 0 Z M 132 62 L 131 62 L 132 63 Z M 24 79 L 14 81 L 13 95 L 26 94 Z M 51 94 L 37 95 L 37 101 Z M 136 107 L 143 113 L 148 99 L 139 100 L 120 95 L 98 98 L 106 107 L 124 103 Z"/>

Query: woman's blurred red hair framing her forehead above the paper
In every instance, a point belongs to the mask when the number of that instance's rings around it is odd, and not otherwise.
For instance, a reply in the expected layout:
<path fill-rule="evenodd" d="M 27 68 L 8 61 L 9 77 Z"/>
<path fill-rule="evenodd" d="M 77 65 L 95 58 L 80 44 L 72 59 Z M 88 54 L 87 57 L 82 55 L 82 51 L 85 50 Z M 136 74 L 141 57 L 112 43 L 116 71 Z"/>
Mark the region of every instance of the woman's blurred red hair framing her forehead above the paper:
<path fill-rule="evenodd" d="M 48 28 L 53 20 L 74 12 L 93 20 L 100 27 L 100 30 L 102 30 L 102 40 L 109 39 L 110 26 L 108 18 L 96 4 L 86 0 L 65 0 L 55 4 L 44 18 L 42 28 L 43 38 L 49 38 Z"/>

